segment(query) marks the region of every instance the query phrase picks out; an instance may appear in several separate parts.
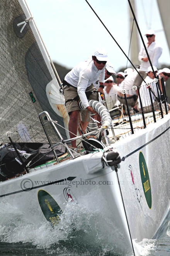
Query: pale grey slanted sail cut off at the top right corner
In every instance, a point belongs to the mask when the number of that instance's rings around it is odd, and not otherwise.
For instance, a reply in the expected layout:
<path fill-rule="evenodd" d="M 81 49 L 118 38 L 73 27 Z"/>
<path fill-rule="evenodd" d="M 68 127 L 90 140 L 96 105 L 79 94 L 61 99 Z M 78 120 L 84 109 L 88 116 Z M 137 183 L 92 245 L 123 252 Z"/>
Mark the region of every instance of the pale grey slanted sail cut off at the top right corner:
<path fill-rule="evenodd" d="M 169 0 L 157 0 L 158 9 L 162 19 L 163 29 L 167 38 L 168 47 L 170 49 L 170 1 Z"/>

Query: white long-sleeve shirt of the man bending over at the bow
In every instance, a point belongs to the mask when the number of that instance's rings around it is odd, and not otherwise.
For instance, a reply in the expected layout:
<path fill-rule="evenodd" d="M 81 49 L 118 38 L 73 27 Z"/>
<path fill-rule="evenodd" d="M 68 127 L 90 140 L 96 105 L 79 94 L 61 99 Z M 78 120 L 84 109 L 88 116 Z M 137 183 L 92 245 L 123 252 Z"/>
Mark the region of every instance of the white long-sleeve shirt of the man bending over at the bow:
<path fill-rule="evenodd" d="M 98 70 L 93 60 L 81 62 L 75 66 L 65 76 L 65 81 L 70 85 L 77 87 L 77 92 L 83 107 L 89 106 L 85 90 L 91 85 L 95 84 L 97 80 L 104 83 L 105 78 L 105 66 L 102 70 Z"/>

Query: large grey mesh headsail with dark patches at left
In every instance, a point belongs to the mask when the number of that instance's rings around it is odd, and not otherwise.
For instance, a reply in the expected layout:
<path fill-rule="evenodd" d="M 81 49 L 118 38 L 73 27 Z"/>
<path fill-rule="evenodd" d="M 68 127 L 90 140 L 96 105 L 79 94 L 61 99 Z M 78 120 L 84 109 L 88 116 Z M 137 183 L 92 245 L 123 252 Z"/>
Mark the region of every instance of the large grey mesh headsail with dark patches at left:
<path fill-rule="evenodd" d="M 24 0 L 0 0 L 0 27 L 0 137 L 22 124 L 36 131 L 37 142 L 45 142 L 39 113 L 48 111 L 62 126 L 68 114 Z"/>

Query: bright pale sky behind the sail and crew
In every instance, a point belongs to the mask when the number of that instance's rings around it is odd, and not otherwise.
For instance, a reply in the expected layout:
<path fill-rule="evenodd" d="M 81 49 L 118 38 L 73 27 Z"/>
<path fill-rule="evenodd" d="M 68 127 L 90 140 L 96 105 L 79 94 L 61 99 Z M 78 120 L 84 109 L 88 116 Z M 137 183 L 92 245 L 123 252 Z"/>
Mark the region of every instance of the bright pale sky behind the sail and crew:
<path fill-rule="evenodd" d="M 163 47 L 159 64 L 169 66 L 170 53 L 157 1 L 134 1 L 136 19 L 144 40 L 146 40 L 144 36 L 146 30 L 154 29 L 156 40 Z M 97 48 L 104 48 L 116 72 L 121 67 L 131 67 L 85 0 L 26 0 L 26 2 L 54 62 L 72 68 L 91 57 Z M 131 33 L 128 0 L 88 0 L 88 3 L 128 55 Z M 139 45 L 141 48 L 141 40 Z"/>

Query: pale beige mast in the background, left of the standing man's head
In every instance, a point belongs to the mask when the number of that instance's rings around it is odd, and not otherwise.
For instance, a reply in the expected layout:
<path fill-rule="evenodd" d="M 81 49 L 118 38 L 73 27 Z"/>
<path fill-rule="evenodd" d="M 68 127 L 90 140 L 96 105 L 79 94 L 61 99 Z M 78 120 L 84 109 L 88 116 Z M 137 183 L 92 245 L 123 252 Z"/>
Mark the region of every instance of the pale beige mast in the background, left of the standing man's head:
<path fill-rule="evenodd" d="M 134 0 L 131 0 L 131 5 L 134 10 L 134 13 L 136 13 Z M 131 47 L 130 47 L 130 59 L 131 59 L 131 62 L 134 63 L 134 65 L 138 65 L 139 64 L 138 54 L 139 54 L 139 50 L 140 50 L 139 49 L 139 34 L 137 31 L 135 22 L 133 22 L 134 18 L 133 18 L 131 9 L 130 9 L 130 7 L 128 7 L 128 8 L 129 8 L 129 36 L 130 37 L 131 37 L 131 33 L 132 33 Z M 132 31 L 132 27 L 133 27 L 133 31 Z"/>

